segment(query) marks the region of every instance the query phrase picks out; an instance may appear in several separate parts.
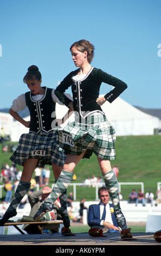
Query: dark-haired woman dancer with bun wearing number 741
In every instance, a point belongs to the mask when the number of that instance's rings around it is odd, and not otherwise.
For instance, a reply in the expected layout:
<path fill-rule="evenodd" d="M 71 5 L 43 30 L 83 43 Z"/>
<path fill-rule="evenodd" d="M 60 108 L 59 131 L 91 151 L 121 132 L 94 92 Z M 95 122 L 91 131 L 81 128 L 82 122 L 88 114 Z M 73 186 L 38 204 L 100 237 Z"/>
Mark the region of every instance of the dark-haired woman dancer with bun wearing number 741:
<path fill-rule="evenodd" d="M 10 157 L 11 161 L 23 166 L 23 172 L 14 198 L 0 220 L 0 225 L 16 216 L 16 208 L 29 191 L 30 180 L 35 168 L 44 167 L 45 164 L 52 165 L 55 180 L 57 180 L 66 159 L 64 151 L 57 143 L 55 130 L 52 129 L 52 124 L 55 123 L 55 104 L 58 102 L 63 105 L 63 103 L 55 96 L 54 89 L 41 87 L 41 73 L 37 66 L 32 65 L 28 68 L 23 82 L 27 84 L 30 91 L 18 96 L 9 110 L 9 113 L 17 121 L 29 128 L 29 133 L 21 135 L 18 147 Z M 70 97 L 71 101 L 72 97 L 69 94 L 66 95 Z M 30 121 L 22 119 L 17 113 L 26 106 L 30 112 Z M 60 197 L 61 216 L 65 228 L 69 228 L 70 220 L 67 215 L 66 199 L 66 191 L 64 191 Z"/>

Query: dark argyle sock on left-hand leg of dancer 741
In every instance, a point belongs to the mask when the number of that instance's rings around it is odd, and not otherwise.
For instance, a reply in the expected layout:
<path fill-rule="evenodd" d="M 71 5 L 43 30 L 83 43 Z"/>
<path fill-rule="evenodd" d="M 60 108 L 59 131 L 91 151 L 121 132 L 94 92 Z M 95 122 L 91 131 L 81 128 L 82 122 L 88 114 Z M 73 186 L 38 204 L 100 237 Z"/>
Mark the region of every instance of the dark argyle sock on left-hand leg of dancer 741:
<path fill-rule="evenodd" d="M 7 211 L 16 210 L 18 204 L 20 204 L 22 198 L 27 194 L 30 188 L 30 182 L 21 181 L 19 182 L 17 189 L 15 191 L 13 200 L 11 201 Z"/>

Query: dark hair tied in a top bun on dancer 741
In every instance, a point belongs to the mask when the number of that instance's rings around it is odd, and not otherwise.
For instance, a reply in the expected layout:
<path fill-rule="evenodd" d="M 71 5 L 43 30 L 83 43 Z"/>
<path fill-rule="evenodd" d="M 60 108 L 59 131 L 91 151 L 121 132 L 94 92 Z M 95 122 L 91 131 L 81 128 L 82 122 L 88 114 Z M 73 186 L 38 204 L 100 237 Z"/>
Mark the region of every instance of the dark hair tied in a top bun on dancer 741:
<path fill-rule="evenodd" d="M 29 66 L 28 72 L 26 75 L 23 77 L 23 82 L 26 83 L 27 81 L 30 80 L 41 80 L 41 73 L 39 71 L 39 68 L 35 65 Z"/>

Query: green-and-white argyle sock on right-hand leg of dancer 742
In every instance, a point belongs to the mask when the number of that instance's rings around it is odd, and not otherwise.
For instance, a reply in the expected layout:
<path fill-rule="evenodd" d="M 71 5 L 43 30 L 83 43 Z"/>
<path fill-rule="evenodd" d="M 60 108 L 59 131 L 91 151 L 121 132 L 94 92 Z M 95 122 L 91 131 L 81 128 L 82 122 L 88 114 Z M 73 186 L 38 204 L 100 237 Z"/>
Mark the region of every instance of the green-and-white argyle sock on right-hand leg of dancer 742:
<path fill-rule="evenodd" d="M 119 185 L 117 182 L 116 175 L 113 170 L 110 170 L 106 174 L 102 174 L 106 188 L 108 190 L 110 199 L 112 200 L 114 210 L 120 209 L 120 200 L 119 200 Z"/>

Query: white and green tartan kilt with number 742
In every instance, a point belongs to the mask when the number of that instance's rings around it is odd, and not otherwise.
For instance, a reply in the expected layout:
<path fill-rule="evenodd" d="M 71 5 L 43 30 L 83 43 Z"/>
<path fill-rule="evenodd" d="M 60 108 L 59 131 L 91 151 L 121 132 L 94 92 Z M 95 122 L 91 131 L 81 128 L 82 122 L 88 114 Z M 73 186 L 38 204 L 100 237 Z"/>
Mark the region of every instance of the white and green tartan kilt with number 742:
<path fill-rule="evenodd" d="M 55 131 L 57 142 L 65 154 L 80 155 L 89 159 L 92 153 L 104 160 L 115 160 L 115 130 L 106 116 L 100 112 L 88 115 L 82 123 L 70 121 L 65 127 Z M 70 135 L 70 136 L 68 136 Z M 72 142 L 72 145 L 71 143 Z"/>

